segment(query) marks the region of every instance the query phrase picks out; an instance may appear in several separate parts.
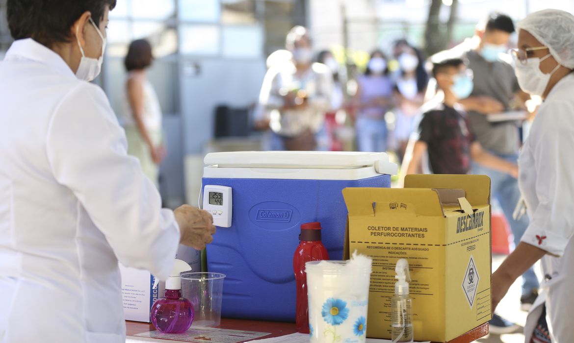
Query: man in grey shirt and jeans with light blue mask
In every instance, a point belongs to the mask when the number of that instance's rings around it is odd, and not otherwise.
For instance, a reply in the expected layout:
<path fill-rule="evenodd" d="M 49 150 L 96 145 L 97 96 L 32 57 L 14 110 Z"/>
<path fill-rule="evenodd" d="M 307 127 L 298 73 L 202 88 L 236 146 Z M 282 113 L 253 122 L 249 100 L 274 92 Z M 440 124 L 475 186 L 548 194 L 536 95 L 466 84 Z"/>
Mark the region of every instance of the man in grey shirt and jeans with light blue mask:
<path fill-rule="evenodd" d="M 484 149 L 509 162 L 517 163 L 521 145 L 519 126 L 521 122 L 506 120 L 490 122 L 488 116 L 501 114 L 515 108 L 522 108 L 530 96 L 523 92 L 514 75 L 512 60 L 508 51 L 511 34 L 515 32 L 513 20 L 505 14 L 492 13 L 486 22 L 477 26 L 471 40 L 456 46 L 453 50 L 468 60 L 468 68 L 474 72 L 474 89 L 470 96 L 461 99 L 460 104 L 468 111 L 468 118 L 476 139 Z M 490 177 L 492 198 L 498 200 L 513 233 L 514 246 L 529 224 L 528 216 L 518 220 L 513 217 L 520 200 L 518 182 L 506 173 L 490 167 L 471 163 L 472 174 Z M 538 278 L 533 268 L 522 275 L 521 309 L 528 311 L 538 295 Z M 490 331 L 495 334 L 512 333 L 519 326 L 494 315 Z"/>

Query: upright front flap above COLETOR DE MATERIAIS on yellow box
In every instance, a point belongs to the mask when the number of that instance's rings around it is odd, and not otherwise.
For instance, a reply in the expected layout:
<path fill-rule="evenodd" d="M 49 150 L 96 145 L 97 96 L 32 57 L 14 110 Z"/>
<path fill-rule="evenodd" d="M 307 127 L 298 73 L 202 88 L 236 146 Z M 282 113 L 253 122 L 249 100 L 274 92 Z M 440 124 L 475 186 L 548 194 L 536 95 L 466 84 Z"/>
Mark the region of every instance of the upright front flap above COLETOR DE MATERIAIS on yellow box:
<path fill-rule="evenodd" d="M 343 197 L 349 216 L 375 216 L 387 211 L 405 211 L 417 216 L 444 216 L 435 189 L 345 188 Z"/>

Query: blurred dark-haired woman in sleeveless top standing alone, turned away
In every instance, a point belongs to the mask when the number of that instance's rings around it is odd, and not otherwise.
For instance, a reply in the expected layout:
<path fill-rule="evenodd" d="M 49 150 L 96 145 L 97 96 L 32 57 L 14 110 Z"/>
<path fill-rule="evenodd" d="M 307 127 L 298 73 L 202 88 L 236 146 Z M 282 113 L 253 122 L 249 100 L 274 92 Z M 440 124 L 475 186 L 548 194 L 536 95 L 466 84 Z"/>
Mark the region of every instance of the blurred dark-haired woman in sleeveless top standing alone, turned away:
<path fill-rule="evenodd" d="M 146 75 L 152 61 L 152 46 L 148 41 L 131 42 L 124 60 L 128 74 L 123 125 L 127 153 L 139 159 L 144 174 L 158 187 L 159 165 L 166 150 L 162 143 L 160 102 Z"/>

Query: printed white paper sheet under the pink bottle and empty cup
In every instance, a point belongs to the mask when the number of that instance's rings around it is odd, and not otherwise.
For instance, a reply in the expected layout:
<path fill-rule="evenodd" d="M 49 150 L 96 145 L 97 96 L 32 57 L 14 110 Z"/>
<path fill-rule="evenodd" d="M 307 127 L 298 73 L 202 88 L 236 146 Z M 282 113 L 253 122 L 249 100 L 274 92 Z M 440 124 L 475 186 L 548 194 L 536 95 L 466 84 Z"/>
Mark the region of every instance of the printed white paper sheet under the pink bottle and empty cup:
<path fill-rule="evenodd" d="M 242 330 L 227 330 L 216 328 L 192 328 L 184 333 L 161 333 L 158 331 L 150 331 L 139 333 L 133 338 L 159 338 L 160 340 L 191 342 L 191 343 L 238 343 L 254 338 L 264 337 L 269 335 L 268 332 L 254 332 Z M 128 337 L 129 338 L 129 337 Z"/>

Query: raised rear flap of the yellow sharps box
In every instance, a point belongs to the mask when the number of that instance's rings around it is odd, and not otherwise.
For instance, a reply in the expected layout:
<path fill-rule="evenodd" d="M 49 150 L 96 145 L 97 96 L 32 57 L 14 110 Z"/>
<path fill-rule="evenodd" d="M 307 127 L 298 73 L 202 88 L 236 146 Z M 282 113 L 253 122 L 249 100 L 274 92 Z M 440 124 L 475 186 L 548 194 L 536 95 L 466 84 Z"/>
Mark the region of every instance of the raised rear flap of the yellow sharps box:
<path fill-rule="evenodd" d="M 423 175 L 405 177 L 405 188 L 463 189 L 472 206 L 490 204 L 490 178 L 486 175 Z"/>

